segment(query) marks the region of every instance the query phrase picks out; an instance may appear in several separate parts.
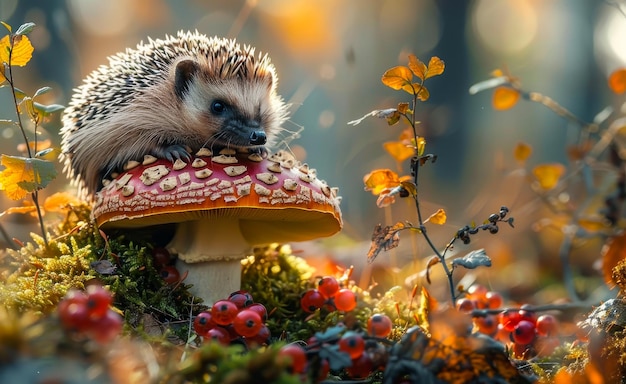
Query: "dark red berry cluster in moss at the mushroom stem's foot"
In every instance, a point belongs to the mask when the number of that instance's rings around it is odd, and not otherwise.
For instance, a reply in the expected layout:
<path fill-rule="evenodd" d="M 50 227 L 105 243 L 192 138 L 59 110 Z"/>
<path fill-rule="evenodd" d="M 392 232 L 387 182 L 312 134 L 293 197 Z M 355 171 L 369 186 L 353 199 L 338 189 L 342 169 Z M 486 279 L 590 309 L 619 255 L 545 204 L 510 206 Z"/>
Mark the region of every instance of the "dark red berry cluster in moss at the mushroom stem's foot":
<path fill-rule="evenodd" d="M 267 344 L 270 330 L 265 325 L 267 309 L 255 303 L 246 291 L 236 291 L 228 299 L 216 301 L 209 311 L 198 314 L 193 329 L 199 336 L 228 345 L 243 340 L 246 345 Z"/>

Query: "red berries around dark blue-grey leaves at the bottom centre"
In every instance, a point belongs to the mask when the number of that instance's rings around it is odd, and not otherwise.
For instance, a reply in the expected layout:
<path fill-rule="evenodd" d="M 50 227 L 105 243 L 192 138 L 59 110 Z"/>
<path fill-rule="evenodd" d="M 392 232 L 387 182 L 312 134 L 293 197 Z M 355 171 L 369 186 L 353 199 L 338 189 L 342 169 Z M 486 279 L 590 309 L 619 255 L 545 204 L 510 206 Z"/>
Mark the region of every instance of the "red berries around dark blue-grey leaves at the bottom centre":
<path fill-rule="evenodd" d="M 297 343 L 283 346 L 279 356 L 290 359 L 292 373 L 312 374 L 316 382 L 324 380 L 330 369 L 344 369 L 349 378 L 363 379 L 384 369 L 388 351 L 380 339 L 391 331 L 391 319 L 384 314 L 375 314 L 367 321 L 367 334 L 336 326 L 315 334 L 306 346 Z"/>

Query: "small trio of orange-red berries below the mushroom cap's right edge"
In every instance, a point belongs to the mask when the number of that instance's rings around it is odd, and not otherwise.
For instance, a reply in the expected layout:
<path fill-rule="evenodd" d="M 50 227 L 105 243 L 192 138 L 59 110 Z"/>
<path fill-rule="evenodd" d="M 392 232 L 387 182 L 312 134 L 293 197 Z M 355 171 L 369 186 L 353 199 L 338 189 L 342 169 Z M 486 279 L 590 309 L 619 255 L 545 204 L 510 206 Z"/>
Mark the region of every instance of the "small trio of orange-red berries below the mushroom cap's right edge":
<path fill-rule="evenodd" d="M 300 307 L 307 313 L 313 313 L 320 308 L 330 312 L 349 312 L 356 308 L 356 294 L 348 288 L 341 288 L 334 277 L 326 276 L 318 281 L 317 288 L 309 289 L 302 295 Z"/>

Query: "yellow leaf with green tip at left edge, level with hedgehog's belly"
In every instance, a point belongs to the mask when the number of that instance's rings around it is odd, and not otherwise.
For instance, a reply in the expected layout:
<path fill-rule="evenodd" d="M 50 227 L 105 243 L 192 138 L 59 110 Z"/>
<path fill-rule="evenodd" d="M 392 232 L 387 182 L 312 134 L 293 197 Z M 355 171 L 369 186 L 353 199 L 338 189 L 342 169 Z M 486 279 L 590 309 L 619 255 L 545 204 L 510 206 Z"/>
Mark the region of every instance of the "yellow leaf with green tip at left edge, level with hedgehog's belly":
<path fill-rule="evenodd" d="M 0 172 L 0 190 L 13 200 L 44 188 L 56 177 L 54 164 L 47 160 L 2 155 L 0 164 L 6 167 Z"/>

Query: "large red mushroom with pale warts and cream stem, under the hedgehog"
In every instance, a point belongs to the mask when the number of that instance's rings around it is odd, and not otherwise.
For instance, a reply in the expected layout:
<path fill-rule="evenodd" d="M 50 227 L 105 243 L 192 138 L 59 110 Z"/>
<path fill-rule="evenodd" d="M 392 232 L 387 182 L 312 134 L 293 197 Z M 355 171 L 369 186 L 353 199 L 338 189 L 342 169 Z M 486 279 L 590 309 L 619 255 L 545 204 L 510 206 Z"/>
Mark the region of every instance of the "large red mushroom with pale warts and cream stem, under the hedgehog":
<path fill-rule="evenodd" d="M 92 211 L 101 229 L 178 223 L 168 248 L 209 305 L 240 289 L 241 259 L 252 246 L 342 227 L 337 189 L 285 151 L 263 158 L 201 150 L 188 163 L 146 157 L 103 185 Z"/>

